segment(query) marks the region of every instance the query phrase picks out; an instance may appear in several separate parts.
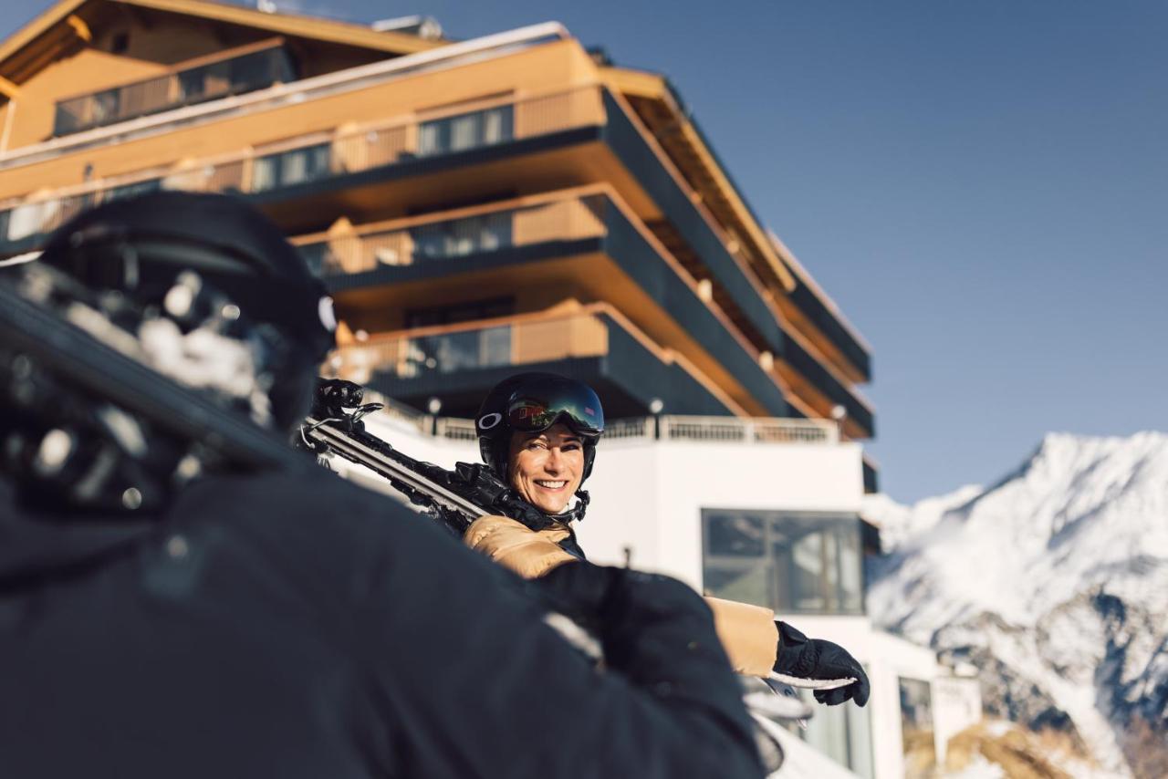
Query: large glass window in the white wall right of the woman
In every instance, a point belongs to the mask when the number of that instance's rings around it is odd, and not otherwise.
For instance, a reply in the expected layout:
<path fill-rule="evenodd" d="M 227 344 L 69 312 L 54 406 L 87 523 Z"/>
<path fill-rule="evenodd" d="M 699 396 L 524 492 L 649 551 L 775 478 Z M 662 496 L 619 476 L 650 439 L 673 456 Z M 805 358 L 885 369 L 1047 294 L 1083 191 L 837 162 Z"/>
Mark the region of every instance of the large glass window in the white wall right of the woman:
<path fill-rule="evenodd" d="M 710 594 L 778 613 L 863 613 L 856 516 L 703 509 L 702 529 Z"/>

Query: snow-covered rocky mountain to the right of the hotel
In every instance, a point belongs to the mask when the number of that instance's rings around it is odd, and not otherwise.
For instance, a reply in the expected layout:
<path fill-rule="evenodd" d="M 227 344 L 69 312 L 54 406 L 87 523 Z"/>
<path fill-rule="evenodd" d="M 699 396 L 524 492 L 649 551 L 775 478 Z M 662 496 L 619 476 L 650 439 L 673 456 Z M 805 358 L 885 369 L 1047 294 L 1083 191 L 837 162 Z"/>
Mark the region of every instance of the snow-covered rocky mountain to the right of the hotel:
<path fill-rule="evenodd" d="M 1047 436 L 988 489 L 872 500 L 880 625 L 981 668 L 987 709 L 1168 775 L 1168 436 Z"/>

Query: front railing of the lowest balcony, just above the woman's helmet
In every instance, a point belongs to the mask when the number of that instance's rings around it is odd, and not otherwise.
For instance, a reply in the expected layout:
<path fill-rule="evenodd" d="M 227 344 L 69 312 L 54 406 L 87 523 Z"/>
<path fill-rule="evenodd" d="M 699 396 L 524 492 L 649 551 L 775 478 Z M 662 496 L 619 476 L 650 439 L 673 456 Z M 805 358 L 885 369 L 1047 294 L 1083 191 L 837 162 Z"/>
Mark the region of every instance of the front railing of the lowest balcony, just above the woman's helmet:
<path fill-rule="evenodd" d="M 498 321 L 498 320 L 496 320 Z M 522 366 L 609 352 L 610 318 L 604 314 L 521 317 L 484 326 L 418 328 L 336 349 L 329 369 L 368 383 L 375 375 L 418 378 L 431 374 Z"/>

